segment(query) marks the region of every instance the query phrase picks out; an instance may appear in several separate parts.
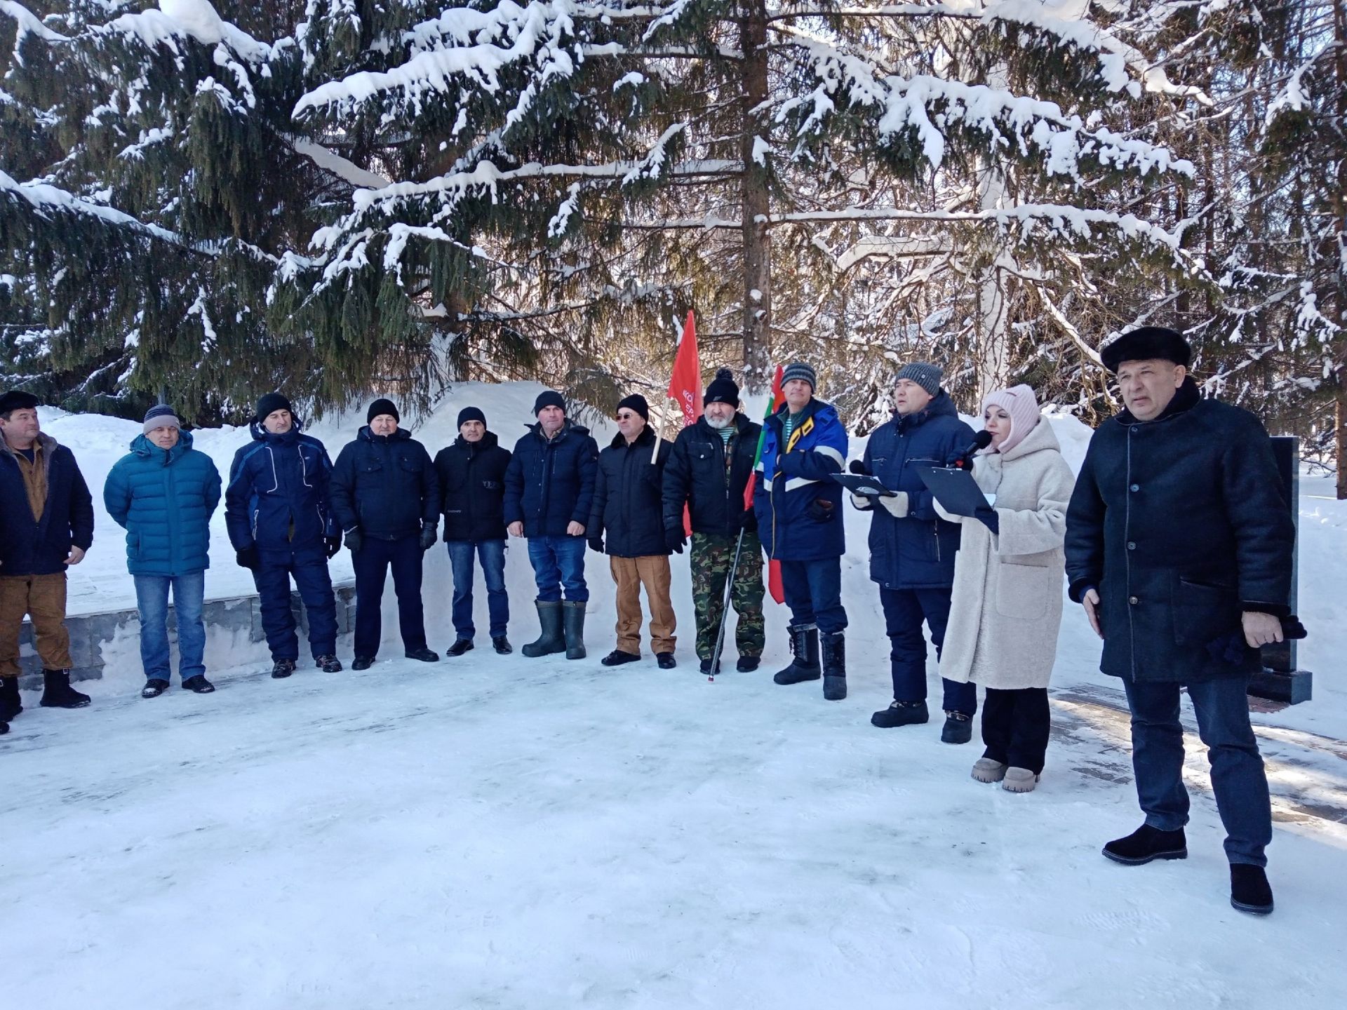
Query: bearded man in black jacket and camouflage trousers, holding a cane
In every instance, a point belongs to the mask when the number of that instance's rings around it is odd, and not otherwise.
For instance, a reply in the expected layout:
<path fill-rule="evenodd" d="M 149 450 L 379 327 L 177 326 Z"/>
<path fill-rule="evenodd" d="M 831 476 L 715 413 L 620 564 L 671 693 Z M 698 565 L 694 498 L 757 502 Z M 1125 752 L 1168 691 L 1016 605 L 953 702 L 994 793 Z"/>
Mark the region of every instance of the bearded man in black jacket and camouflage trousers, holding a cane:
<path fill-rule="evenodd" d="M 713 672 L 717 630 L 723 621 L 725 580 L 731 576 L 742 531 L 730 602 L 738 614 L 734 634 L 740 672 L 762 659 L 762 544 L 752 508 L 753 466 L 762 426 L 740 412 L 740 388 L 729 369 L 719 369 L 702 397 L 702 416 L 683 428 L 664 466 L 664 529 L 682 536 L 684 514 L 692 527 L 692 606 L 696 656 Z"/>

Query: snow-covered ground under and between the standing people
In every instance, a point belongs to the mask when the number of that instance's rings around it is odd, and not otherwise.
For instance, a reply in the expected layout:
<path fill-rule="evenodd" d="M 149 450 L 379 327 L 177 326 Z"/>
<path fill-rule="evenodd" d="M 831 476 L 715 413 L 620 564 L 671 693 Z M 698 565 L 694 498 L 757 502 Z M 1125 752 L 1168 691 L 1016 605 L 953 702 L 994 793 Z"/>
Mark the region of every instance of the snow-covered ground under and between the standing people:
<path fill-rule="evenodd" d="M 536 391 L 459 388 L 419 434 L 434 452 L 458 408 L 477 403 L 509 443 Z M 75 448 L 97 498 L 135 426 L 43 420 Z M 1079 462 L 1087 432 L 1053 424 Z M 357 426 L 314 434 L 335 454 Z M 207 431 L 198 444 L 224 467 L 244 438 Z M 591 657 L 579 663 L 480 648 L 434 667 L 384 659 L 362 673 L 306 667 L 272 681 L 256 652 L 214 642 L 217 694 L 175 687 L 144 702 L 133 642 L 105 648 L 93 707 L 50 712 L 30 694 L 0 738 L 4 1005 L 1018 1010 L 1342 999 L 1347 508 L 1327 478 L 1301 485 L 1300 611 L 1311 630 L 1301 665 L 1316 672 L 1316 696 L 1255 716 L 1277 816 L 1278 908 L 1268 920 L 1227 902 L 1195 735 L 1189 859 L 1122 867 L 1099 856 L 1140 815 L 1121 695 L 1098 673 L 1098 644 L 1075 607 L 1037 792 L 974 782 L 981 750 L 942 745 L 938 722 L 870 727 L 889 699 L 888 642 L 866 578 L 866 520 L 847 521 L 850 698 L 839 704 L 816 683 L 770 683 L 787 653 L 785 614 L 770 605 L 764 669 L 699 676 L 686 556 L 674 564 L 676 671 L 656 669 L 648 653 L 616 671 L 598 665 L 612 648 L 613 593 L 597 555 Z M 88 609 L 131 598 L 109 531 L 100 514 L 79 572 Z M 222 527 L 214 556 L 210 595 L 251 588 Z M 517 648 L 536 634 L 532 582 L 524 551 L 508 564 Z M 426 601 L 431 644 L 443 648 L 453 630 L 439 548 Z M 383 654 L 397 657 L 389 618 L 391 599 Z"/>

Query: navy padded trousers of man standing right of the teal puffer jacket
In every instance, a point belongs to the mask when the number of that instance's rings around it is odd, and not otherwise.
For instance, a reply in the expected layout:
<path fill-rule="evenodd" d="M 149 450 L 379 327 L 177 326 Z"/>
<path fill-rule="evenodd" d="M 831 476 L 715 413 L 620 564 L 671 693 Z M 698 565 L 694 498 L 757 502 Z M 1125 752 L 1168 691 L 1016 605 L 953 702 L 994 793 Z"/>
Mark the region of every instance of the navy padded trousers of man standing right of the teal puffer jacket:
<path fill-rule="evenodd" d="M 327 575 L 327 552 L 319 540 L 291 551 L 261 549 L 253 572 L 261 626 L 273 660 L 298 660 L 295 611 L 290 609 L 290 579 L 294 576 L 308 618 L 308 648 L 314 659 L 337 654 L 337 601 Z"/>

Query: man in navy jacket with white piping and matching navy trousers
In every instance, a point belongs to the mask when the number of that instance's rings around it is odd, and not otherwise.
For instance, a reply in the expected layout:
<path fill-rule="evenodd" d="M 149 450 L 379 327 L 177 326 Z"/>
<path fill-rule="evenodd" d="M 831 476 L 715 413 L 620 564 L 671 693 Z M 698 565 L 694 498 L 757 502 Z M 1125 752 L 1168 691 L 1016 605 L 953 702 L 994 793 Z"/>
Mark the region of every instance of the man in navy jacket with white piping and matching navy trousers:
<path fill-rule="evenodd" d="M 267 393 L 257 400 L 252 443 L 234 454 L 225 490 L 229 541 L 257 586 L 273 677 L 288 677 L 299 660 L 291 576 L 308 615 L 314 663 L 326 673 L 341 671 L 337 601 L 327 574 L 327 559 L 341 549 L 329 508 L 333 465 L 323 443 L 299 428 L 284 396 Z"/>

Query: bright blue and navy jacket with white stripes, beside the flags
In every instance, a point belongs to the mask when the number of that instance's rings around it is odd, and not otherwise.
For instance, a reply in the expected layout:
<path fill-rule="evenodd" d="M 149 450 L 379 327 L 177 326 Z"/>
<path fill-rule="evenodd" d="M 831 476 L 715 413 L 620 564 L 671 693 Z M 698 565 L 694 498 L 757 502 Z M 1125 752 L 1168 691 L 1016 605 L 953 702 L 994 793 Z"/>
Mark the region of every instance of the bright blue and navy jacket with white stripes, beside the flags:
<path fill-rule="evenodd" d="M 811 399 L 781 446 L 789 407 L 766 419 L 753 510 L 769 558 L 814 562 L 841 558 L 842 485 L 831 478 L 846 459 L 847 436 L 836 408 Z"/>

